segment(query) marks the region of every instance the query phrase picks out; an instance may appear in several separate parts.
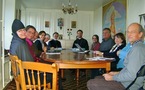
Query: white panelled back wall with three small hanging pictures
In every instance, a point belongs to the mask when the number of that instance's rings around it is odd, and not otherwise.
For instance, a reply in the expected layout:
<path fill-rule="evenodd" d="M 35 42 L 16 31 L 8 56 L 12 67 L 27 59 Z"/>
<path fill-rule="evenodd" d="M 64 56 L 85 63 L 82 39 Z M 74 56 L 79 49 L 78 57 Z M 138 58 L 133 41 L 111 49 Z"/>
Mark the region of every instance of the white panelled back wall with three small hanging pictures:
<path fill-rule="evenodd" d="M 58 27 L 57 20 L 58 18 L 64 19 L 64 26 L 62 29 Z M 46 10 L 46 9 L 30 9 L 26 8 L 22 10 L 22 22 L 25 25 L 33 25 L 36 27 L 37 31 L 45 30 L 52 37 L 54 32 L 59 32 L 63 35 L 64 40 L 68 40 L 67 29 L 71 28 L 71 21 L 76 21 L 76 28 L 72 28 L 71 39 L 76 39 L 76 32 L 78 29 L 83 30 L 83 37 L 91 41 L 91 32 L 93 32 L 93 17 L 94 12 L 92 11 L 78 11 L 77 14 L 69 15 L 63 14 L 60 10 Z M 50 27 L 45 27 L 45 21 L 50 22 Z"/>

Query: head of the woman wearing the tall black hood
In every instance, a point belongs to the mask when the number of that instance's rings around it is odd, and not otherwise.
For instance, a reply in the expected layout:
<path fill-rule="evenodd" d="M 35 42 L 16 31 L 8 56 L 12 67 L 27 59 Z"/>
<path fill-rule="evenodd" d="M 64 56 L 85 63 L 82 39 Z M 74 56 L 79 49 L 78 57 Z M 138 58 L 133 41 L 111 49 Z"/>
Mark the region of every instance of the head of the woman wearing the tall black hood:
<path fill-rule="evenodd" d="M 13 34 L 13 36 L 19 37 L 20 39 L 26 38 L 26 35 L 25 35 L 26 30 L 25 30 L 24 24 L 18 19 L 15 19 L 13 21 L 12 34 Z"/>

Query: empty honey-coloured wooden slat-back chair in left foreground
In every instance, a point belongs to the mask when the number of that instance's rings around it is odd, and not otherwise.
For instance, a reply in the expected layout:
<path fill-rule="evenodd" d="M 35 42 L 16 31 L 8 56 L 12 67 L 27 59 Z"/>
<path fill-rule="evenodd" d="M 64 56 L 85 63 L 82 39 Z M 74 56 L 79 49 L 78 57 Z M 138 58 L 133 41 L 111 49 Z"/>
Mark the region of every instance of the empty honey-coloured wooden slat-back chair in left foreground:
<path fill-rule="evenodd" d="M 22 90 L 41 90 L 42 88 L 44 90 L 57 90 L 58 68 L 55 63 L 49 65 L 38 62 L 22 62 L 17 56 L 12 55 L 10 55 L 10 60 L 17 90 L 20 90 L 20 86 Z M 50 83 L 46 82 L 48 73 L 52 73 L 51 89 Z M 40 78 L 40 74 L 43 74 L 43 84 L 40 82 L 40 79 L 42 79 Z M 28 84 L 26 84 L 26 77 Z"/>

